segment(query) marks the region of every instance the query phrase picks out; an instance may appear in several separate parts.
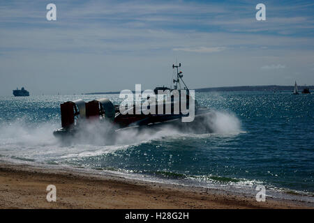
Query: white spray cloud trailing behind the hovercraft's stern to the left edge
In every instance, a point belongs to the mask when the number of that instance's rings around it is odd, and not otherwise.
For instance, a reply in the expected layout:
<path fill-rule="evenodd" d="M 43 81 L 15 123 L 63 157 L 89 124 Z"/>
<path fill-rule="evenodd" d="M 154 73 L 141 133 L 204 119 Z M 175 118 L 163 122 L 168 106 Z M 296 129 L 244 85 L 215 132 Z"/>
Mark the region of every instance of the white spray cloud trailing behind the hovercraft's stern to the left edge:
<path fill-rule="evenodd" d="M 52 134 L 56 127 L 55 123 L 29 123 L 23 118 L 0 123 L 1 159 L 43 160 L 68 152 Z"/>

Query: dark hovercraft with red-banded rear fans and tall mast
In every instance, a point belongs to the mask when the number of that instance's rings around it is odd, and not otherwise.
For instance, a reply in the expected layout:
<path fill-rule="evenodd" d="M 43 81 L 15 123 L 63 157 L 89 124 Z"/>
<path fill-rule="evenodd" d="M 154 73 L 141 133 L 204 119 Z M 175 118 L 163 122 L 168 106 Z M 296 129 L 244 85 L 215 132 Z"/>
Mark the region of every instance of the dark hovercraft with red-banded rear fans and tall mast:
<path fill-rule="evenodd" d="M 60 106 L 61 128 L 54 131 L 54 136 L 73 136 L 76 132 L 84 129 L 87 123 L 110 124 L 111 132 L 160 125 L 171 125 L 173 128 L 180 129 L 204 130 L 202 124 L 205 118 L 211 115 L 211 110 L 198 105 L 195 95 L 190 93 L 183 82 L 183 75 L 181 71 L 179 72 L 179 67 L 181 67 L 181 63 L 179 66 L 172 66 L 177 71 L 177 78 L 173 80 L 174 88 L 156 87 L 154 97 L 147 97 L 142 102 L 142 105 L 145 105 L 144 109 L 142 106 L 137 106 L 138 104 L 135 102 L 133 106 L 126 106 L 124 112 L 121 112 L 121 105 L 114 105 L 107 98 L 89 102 L 75 100 L 62 103 Z M 180 82 L 184 84 L 183 89 Z M 147 112 L 145 109 L 155 112 Z M 184 118 L 190 117 L 192 109 L 193 118 L 190 121 L 183 121 Z"/>

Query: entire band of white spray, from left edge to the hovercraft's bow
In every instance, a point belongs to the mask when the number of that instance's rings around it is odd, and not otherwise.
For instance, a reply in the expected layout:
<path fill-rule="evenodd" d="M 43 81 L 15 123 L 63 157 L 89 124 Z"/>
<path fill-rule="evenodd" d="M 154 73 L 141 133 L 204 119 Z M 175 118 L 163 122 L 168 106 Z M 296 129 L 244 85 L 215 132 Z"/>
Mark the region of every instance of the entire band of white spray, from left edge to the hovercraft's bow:
<path fill-rule="evenodd" d="M 192 125 L 181 120 L 176 124 L 161 124 L 125 128 L 115 132 L 109 121 L 81 123 L 70 141 L 60 143 L 52 134 L 57 123 L 29 123 L 24 119 L 0 123 L 0 155 L 22 157 L 34 160 L 54 160 L 67 155 L 82 153 L 111 153 L 151 140 L 171 137 L 186 137 L 186 134 L 238 134 L 241 126 L 239 119 L 227 112 L 212 111 L 209 116 L 195 119 Z M 192 136 L 193 137 L 193 136 Z"/>

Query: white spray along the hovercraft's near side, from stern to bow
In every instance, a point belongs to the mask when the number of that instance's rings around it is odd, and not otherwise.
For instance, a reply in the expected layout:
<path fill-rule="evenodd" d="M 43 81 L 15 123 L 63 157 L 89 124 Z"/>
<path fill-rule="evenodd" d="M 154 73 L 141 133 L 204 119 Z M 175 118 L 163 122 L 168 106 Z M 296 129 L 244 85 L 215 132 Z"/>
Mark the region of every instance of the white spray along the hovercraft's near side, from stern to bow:
<path fill-rule="evenodd" d="M 212 111 L 207 116 L 195 117 L 192 123 L 182 123 L 180 119 L 170 123 L 131 126 L 117 130 L 114 123 L 107 120 L 81 120 L 77 132 L 63 139 L 65 146 L 91 144 L 97 146 L 130 145 L 143 141 L 171 137 L 179 134 L 237 134 L 241 130 L 239 119 L 227 112 Z"/>

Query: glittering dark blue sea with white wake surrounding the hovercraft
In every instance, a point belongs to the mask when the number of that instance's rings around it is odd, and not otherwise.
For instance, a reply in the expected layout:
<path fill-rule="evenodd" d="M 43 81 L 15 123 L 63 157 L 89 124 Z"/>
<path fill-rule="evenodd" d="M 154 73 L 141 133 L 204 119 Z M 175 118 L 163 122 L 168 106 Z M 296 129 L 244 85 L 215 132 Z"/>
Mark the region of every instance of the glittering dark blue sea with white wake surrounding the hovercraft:
<path fill-rule="evenodd" d="M 61 127 L 59 104 L 119 95 L 0 97 L 0 159 L 80 167 L 157 182 L 251 190 L 314 202 L 314 95 L 271 92 L 196 93 L 215 114 L 214 132 L 161 129 L 64 144 L 52 135 Z M 106 126 L 103 126 L 106 128 Z"/>

